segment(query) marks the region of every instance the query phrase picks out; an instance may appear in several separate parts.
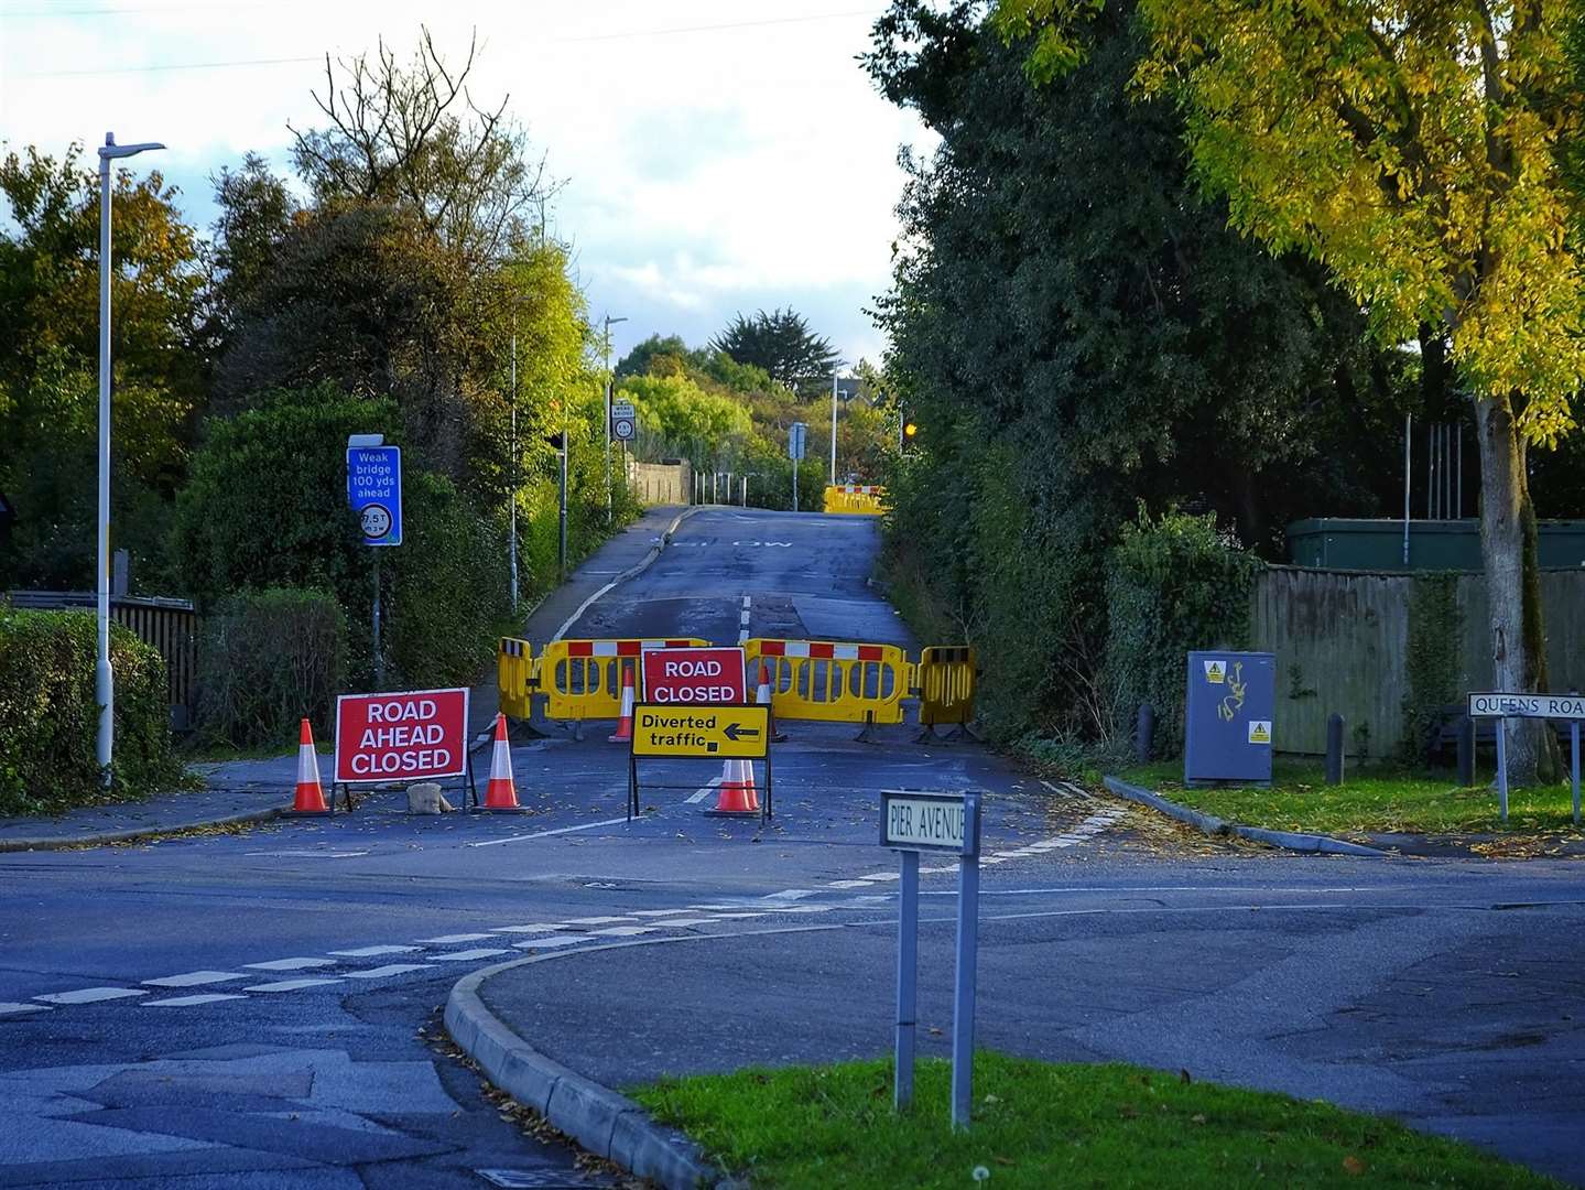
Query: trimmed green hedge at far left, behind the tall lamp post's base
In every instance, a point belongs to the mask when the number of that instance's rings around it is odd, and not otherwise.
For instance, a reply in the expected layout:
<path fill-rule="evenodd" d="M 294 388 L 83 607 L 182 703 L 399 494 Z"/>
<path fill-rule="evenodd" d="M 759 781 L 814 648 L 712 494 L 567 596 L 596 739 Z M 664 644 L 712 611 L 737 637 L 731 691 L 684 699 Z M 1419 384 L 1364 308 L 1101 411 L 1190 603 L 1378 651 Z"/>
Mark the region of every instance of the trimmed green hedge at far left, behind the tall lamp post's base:
<path fill-rule="evenodd" d="M 108 800 L 94 740 L 97 632 L 86 612 L 0 605 L 0 814 Z M 171 749 L 165 661 L 111 624 L 116 673 L 113 799 L 144 797 L 181 780 Z"/>

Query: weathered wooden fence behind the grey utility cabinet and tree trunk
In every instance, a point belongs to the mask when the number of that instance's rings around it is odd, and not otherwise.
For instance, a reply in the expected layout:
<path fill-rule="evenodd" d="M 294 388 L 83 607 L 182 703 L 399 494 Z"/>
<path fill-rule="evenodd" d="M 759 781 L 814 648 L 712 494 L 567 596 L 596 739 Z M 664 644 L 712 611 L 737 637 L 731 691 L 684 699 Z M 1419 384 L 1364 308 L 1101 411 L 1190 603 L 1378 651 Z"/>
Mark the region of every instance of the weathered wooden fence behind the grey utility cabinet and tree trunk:
<path fill-rule="evenodd" d="M 1255 580 L 1252 646 L 1278 654 L 1276 743 L 1327 749 L 1327 716 L 1347 723 L 1346 746 L 1390 756 L 1403 742 L 1412 575 L 1268 567 Z M 1485 577 L 1457 578 L 1460 689 L 1491 688 Z M 1545 570 L 1541 602 L 1555 691 L 1585 689 L 1585 570 Z M 1362 730 L 1363 726 L 1363 730 Z"/>

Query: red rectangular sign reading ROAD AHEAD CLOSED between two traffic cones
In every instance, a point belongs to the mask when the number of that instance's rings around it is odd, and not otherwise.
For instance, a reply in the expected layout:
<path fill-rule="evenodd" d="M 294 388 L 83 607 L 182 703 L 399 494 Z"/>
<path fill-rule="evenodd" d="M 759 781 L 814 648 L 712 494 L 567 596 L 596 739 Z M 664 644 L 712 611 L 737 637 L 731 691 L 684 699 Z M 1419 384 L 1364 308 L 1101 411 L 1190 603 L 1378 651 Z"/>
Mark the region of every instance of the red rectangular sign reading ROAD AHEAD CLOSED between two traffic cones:
<path fill-rule="evenodd" d="M 468 688 L 336 699 L 336 781 L 423 781 L 468 770 Z"/>

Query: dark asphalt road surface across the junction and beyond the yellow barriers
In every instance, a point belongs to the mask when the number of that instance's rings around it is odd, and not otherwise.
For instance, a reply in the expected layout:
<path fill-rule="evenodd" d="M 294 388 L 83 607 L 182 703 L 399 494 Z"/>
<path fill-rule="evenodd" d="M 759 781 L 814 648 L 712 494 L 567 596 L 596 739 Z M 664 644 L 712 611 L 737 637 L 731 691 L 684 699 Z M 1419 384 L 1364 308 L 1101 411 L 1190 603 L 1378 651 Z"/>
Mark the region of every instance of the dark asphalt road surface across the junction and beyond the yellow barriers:
<path fill-rule="evenodd" d="M 569 635 L 908 643 L 867 582 L 877 544 L 864 518 L 707 509 Z M 875 791 L 899 786 L 986 791 L 983 1044 L 1322 1095 L 1585 1184 L 1577 864 L 1298 856 L 972 743 L 785 726 L 770 822 L 707 818 L 704 762 L 640 773 L 628 822 L 626 753 L 593 730 L 514 745 L 517 816 L 414 818 L 382 792 L 331 819 L 0 854 L 0 1187 L 601 1185 L 441 1039 L 460 981 L 572 1093 L 884 1054 Z M 924 868 L 932 1052 L 954 872 Z"/>

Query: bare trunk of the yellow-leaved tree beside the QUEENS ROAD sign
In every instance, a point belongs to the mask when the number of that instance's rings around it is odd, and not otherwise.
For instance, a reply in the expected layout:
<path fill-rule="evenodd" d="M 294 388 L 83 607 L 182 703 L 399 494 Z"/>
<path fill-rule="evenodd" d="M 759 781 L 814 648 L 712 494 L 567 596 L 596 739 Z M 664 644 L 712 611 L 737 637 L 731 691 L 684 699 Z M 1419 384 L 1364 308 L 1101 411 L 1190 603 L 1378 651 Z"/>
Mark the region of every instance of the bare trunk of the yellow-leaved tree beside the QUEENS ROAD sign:
<path fill-rule="evenodd" d="M 1525 453 L 1507 401 L 1474 398 L 1480 447 L 1480 551 L 1485 555 L 1491 626 L 1491 686 L 1503 692 L 1533 689 L 1525 658 Z M 1536 780 L 1537 732 L 1509 735 L 1509 780 Z"/>

